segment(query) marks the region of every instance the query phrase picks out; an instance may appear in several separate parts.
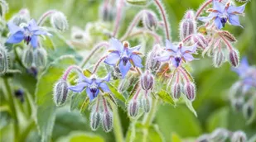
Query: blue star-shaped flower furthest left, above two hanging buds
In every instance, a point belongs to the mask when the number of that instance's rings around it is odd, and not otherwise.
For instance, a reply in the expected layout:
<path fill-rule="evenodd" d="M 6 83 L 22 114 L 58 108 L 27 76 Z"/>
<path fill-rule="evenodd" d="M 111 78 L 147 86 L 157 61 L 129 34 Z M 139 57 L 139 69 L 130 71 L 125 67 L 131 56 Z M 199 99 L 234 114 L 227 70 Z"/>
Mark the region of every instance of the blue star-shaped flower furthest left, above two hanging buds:
<path fill-rule="evenodd" d="M 38 45 L 38 36 L 48 35 L 46 31 L 42 31 L 39 26 L 37 26 L 36 21 L 32 19 L 28 22 L 27 26 L 17 26 L 12 21 L 7 23 L 7 26 L 10 30 L 11 35 L 7 39 L 7 43 L 17 44 L 24 42 L 28 45 L 31 43 L 31 46 L 36 48 Z"/>

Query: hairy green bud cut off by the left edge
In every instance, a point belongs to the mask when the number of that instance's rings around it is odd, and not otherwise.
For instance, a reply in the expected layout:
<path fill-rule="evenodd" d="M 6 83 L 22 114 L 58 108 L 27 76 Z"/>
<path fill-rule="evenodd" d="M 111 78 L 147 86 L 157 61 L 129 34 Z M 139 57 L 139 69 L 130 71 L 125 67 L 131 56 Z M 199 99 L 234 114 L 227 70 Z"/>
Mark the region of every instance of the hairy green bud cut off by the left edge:
<path fill-rule="evenodd" d="M 0 45 L 0 74 L 7 72 L 8 65 L 7 49 Z"/>

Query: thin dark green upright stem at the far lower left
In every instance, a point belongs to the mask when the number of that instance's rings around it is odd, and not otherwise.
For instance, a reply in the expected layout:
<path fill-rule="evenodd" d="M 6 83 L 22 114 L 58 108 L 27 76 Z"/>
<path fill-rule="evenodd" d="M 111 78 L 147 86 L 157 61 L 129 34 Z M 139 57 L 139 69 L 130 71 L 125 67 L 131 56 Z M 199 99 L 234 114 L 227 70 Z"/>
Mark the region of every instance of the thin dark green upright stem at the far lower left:
<path fill-rule="evenodd" d="M 3 78 L 3 82 L 5 84 L 5 88 L 6 88 L 6 92 L 7 92 L 7 95 L 8 95 L 8 102 L 9 102 L 9 105 L 10 105 L 10 108 L 12 110 L 12 116 L 13 116 L 13 119 L 14 119 L 14 141 L 18 141 L 18 136 L 19 136 L 19 128 L 18 128 L 18 119 L 17 119 L 17 111 L 16 111 L 16 107 L 15 107 L 15 103 L 14 103 L 14 97 L 12 95 L 12 90 L 11 90 L 11 87 L 10 87 L 10 84 L 8 83 L 8 79 L 7 78 Z"/>

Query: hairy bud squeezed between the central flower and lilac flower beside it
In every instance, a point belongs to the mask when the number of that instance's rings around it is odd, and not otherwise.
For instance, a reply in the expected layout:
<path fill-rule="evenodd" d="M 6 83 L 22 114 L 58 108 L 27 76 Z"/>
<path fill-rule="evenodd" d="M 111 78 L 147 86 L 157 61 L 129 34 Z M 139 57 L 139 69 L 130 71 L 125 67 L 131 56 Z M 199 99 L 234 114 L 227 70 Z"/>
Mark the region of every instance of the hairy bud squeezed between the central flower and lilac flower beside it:
<path fill-rule="evenodd" d="M 153 50 L 147 54 L 146 68 L 148 70 L 156 72 L 159 69 L 161 62 L 155 59 L 159 55 L 159 45 L 155 45 Z"/>

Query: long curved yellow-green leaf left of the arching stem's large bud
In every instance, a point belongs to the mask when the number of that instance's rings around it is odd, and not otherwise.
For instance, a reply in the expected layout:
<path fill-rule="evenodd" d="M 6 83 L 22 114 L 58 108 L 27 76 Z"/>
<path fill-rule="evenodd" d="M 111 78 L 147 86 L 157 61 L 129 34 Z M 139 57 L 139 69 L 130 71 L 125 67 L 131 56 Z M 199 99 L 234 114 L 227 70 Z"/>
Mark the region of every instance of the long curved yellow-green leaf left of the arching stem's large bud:
<path fill-rule="evenodd" d="M 75 64 L 75 59 L 72 56 L 62 56 L 51 63 L 38 78 L 36 84 L 36 125 L 41 135 L 41 141 L 49 141 L 56 119 L 56 105 L 52 99 L 53 86 L 71 64 Z"/>

